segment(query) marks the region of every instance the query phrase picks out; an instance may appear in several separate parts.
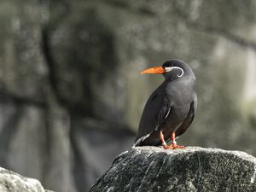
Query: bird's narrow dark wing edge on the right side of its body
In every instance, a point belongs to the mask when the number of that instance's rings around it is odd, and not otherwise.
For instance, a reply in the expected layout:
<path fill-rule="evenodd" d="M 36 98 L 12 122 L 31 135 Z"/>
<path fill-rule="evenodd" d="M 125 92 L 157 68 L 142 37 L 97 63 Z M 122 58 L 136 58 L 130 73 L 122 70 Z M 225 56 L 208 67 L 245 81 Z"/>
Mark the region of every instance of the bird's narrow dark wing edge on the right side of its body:
<path fill-rule="evenodd" d="M 182 125 L 180 125 L 177 129 L 176 137 L 183 134 L 184 131 L 186 131 L 189 128 L 189 125 L 192 123 L 194 117 L 195 117 L 195 111 L 197 108 L 197 96 L 194 96 L 193 101 L 190 104 L 189 113 L 186 117 L 186 119 L 183 121 Z"/>

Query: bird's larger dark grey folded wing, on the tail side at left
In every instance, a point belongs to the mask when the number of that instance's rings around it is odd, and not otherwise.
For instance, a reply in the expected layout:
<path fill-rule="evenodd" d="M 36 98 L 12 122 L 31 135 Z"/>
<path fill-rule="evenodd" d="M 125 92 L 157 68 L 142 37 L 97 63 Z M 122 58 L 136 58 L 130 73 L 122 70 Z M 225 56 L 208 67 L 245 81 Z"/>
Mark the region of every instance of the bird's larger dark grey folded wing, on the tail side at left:
<path fill-rule="evenodd" d="M 137 131 L 135 145 L 139 145 L 153 131 L 157 131 L 171 111 L 170 102 L 166 99 L 165 95 L 160 94 L 161 92 L 155 90 L 148 98 Z"/>

